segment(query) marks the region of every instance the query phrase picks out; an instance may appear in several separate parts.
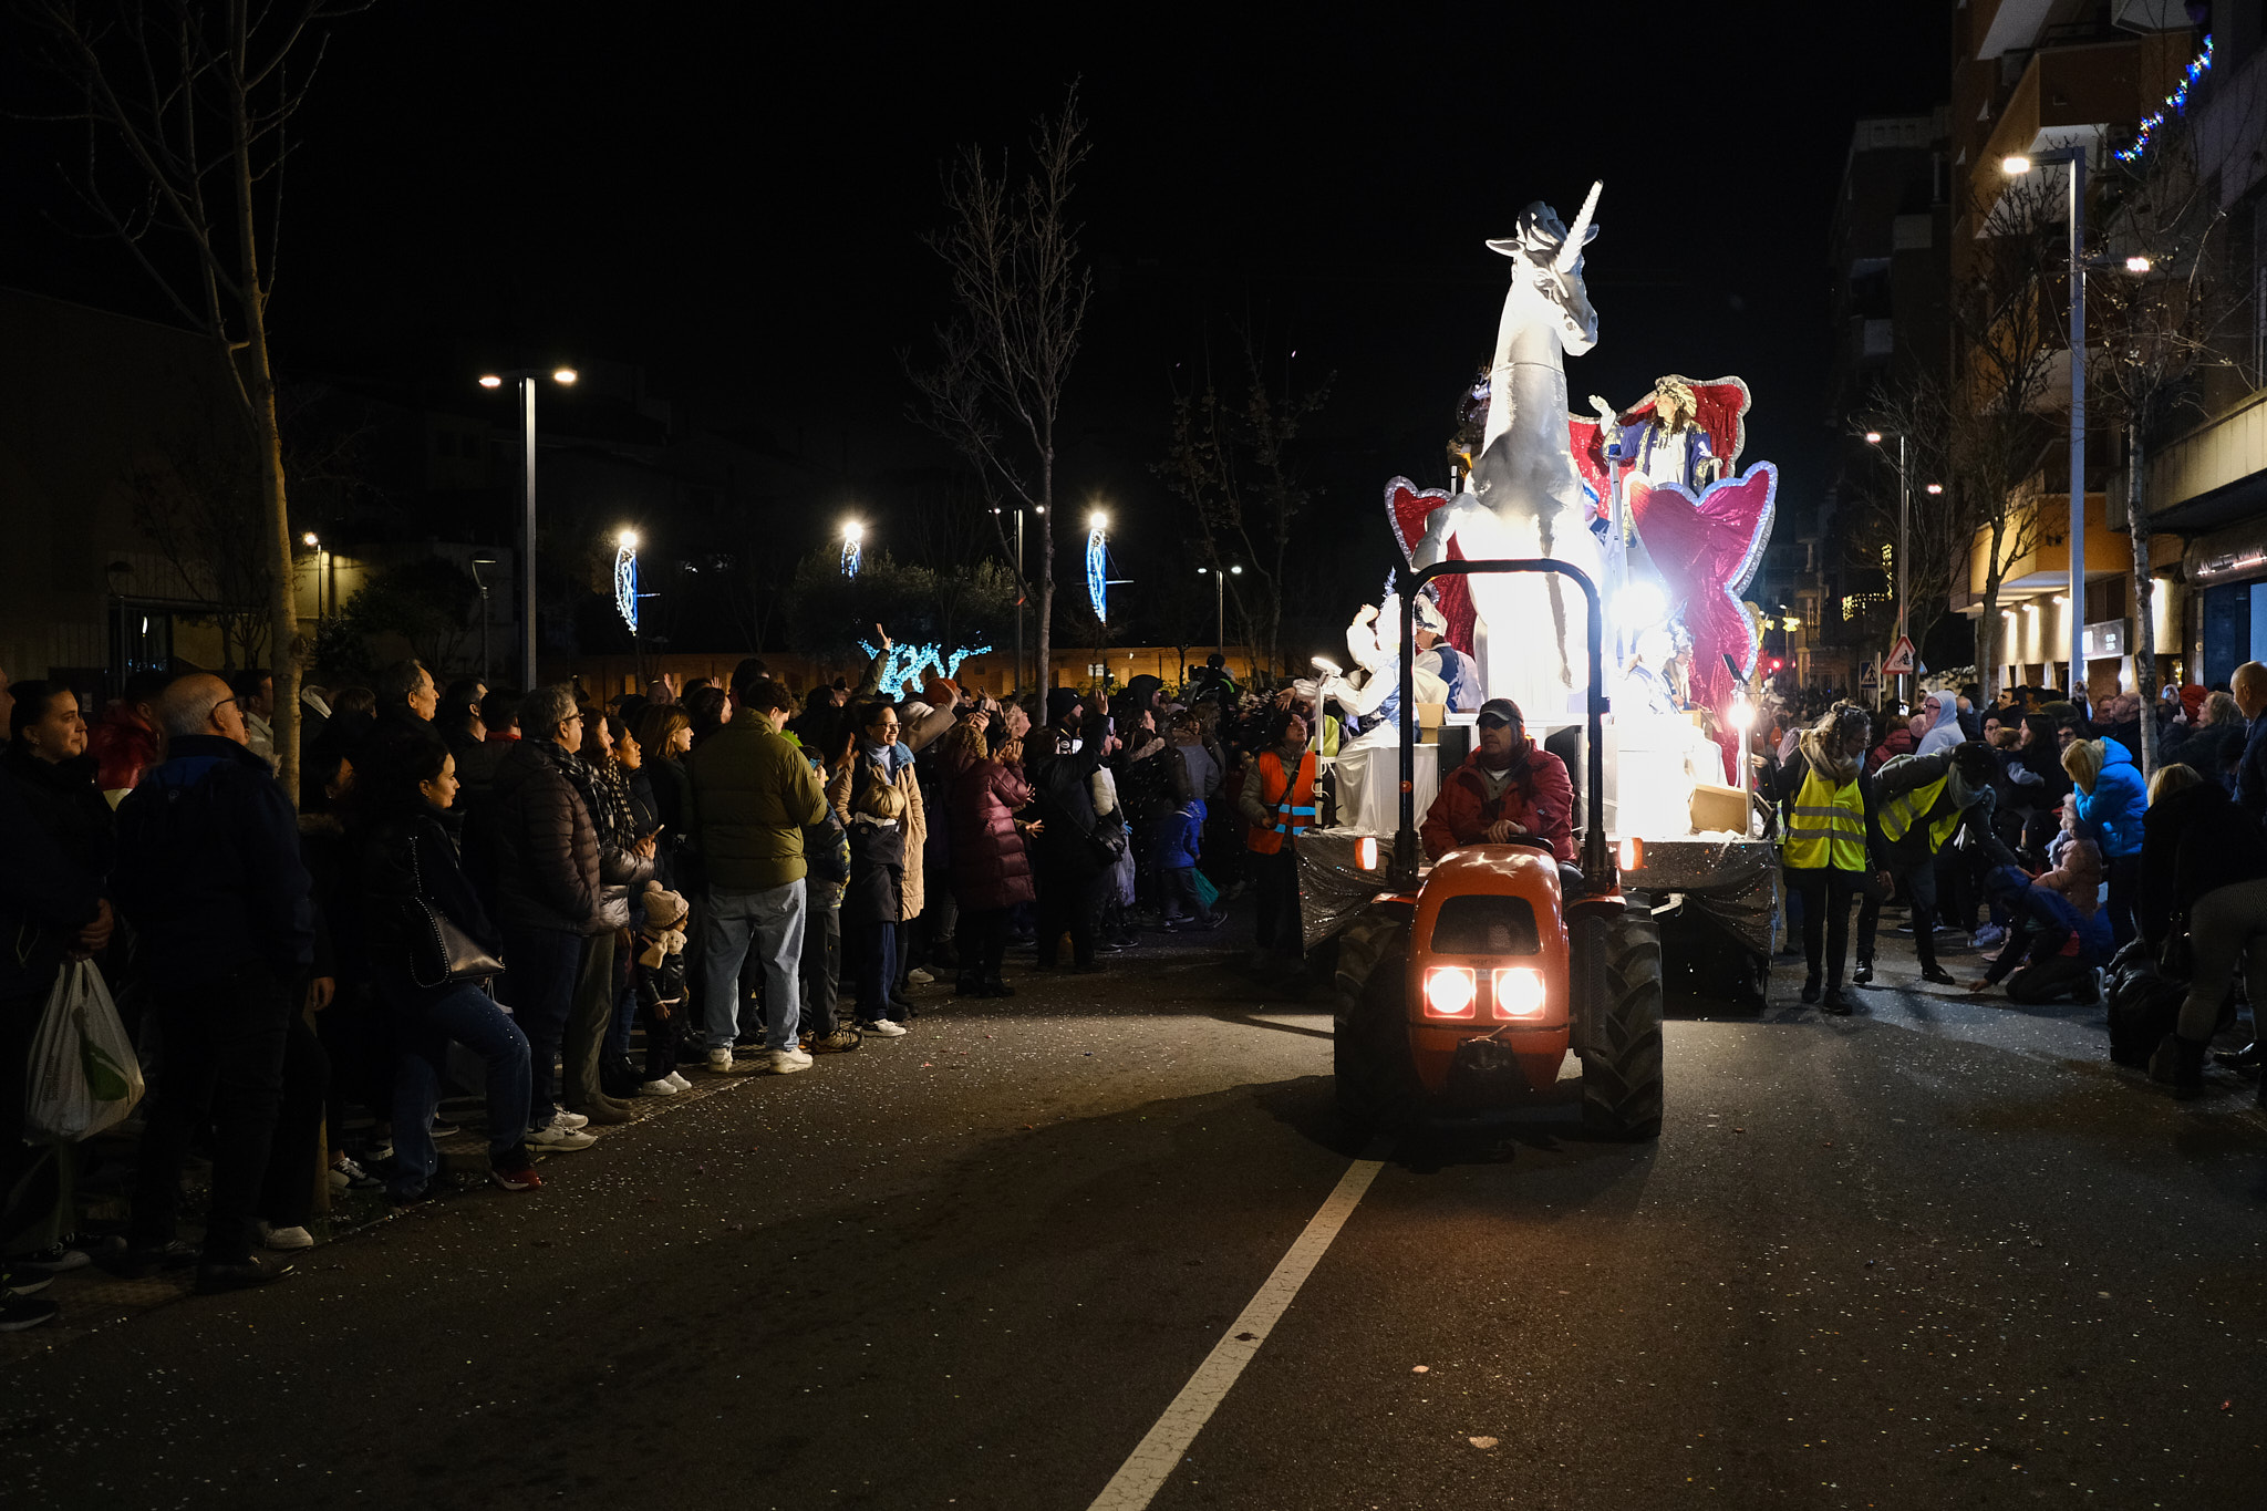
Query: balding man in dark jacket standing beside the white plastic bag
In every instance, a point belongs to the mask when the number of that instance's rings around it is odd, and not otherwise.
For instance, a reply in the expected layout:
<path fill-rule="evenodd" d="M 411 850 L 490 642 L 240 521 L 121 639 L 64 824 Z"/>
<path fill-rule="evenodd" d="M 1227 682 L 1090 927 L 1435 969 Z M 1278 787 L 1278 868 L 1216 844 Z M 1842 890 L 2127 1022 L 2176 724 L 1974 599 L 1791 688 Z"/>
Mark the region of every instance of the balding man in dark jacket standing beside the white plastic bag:
<path fill-rule="evenodd" d="M 127 1273 L 197 1260 L 199 1291 L 290 1273 L 252 1253 L 252 1221 L 283 1099 L 283 1047 L 315 961 L 299 822 L 213 675 L 156 702 L 165 761 L 118 804 L 118 908 L 138 933 L 163 1065 L 143 1133 Z M 204 1248 L 175 1241 L 181 1164 L 213 1119 Z"/>

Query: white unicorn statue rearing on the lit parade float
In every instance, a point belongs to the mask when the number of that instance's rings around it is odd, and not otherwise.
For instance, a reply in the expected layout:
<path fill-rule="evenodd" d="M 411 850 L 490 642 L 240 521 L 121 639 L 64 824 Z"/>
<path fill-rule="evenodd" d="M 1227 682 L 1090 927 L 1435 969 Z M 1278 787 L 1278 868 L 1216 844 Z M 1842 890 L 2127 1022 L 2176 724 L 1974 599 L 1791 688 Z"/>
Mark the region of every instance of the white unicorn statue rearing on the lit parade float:
<path fill-rule="evenodd" d="M 1598 344 L 1598 313 L 1582 288 L 1582 247 L 1605 183 L 1591 183 L 1573 229 L 1548 204 L 1519 211 L 1512 236 L 1487 242 L 1512 258 L 1512 288 L 1487 372 L 1487 426 L 1464 492 L 1433 512 L 1412 553 L 1417 566 L 1464 560 L 1557 557 L 1598 591 L 1605 553 L 1589 532 L 1582 476 L 1566 419 L 1566 353 Z M 1489 698 L 1512 698 L 1530 720 L 1580 711 L 1589 661 L 1582 594 L 1562 578 L 1474 575 L 1474 652 Z"/>

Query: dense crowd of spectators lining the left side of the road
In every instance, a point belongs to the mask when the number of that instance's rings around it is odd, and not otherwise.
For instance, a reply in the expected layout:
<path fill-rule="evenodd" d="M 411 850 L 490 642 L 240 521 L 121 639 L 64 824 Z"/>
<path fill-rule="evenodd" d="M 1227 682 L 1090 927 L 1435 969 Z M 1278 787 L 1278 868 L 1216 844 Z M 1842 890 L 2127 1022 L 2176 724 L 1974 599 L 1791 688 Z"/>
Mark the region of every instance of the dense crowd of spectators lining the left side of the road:
<path fill-rule="evenodd" d="M 73 961 L 152 1090 L 122 1232 L 88 1230 L 84 1151 L 0 1142 L 0 1325 L 52 1316 L 34 1291 L 86 1264 L 193 1269 L 202 1291 L 288 1275 L 324 1183 L 435 1194 L 451 1085 L 478 1092 L 487 1178 L 533 1192 L 537 1155 L 589 1149 L 687 1072 L 798 1074 L 902 1038 L 939 1006 L 918 988 L 1013 997 L 1011 951 L 1102 972 L 1256 888 L 1256 965 L 1297 967 L 1310 686 L 1251 693 L 1215 664 L 1181 700 L 1156 677 L 893 698 L 886 650 L 803 698 L 755 657 L 612 700 L 401 661 L 304 689 L 290 795 L 261 671 L 138 675 L 100 711 L 18 682 L 0 1117 L 20 1124 Z M 211 1180 L 186 1241 L 193 1151 Z"/>

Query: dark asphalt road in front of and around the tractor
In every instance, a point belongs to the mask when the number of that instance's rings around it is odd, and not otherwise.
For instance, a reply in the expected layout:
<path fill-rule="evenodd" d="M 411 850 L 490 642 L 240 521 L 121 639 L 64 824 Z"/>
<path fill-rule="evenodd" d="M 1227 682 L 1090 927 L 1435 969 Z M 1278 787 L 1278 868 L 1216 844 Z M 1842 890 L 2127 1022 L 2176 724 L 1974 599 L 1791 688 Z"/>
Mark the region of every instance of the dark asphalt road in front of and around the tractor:
<path fill-rule="evenodd" d="M 540 1194 L 23 1359 L 0 1502 L 1090 1506 L 1365 1153 L 1326 1006 L 1238 956 L 932 988 Z M 2099 1010 L 1793 985 L 1675 1015 L 1659 1144 L 1372 1149 L 1149 1504 L 2258 1506 L 2251 1090 L 2172 1103 Z"/>

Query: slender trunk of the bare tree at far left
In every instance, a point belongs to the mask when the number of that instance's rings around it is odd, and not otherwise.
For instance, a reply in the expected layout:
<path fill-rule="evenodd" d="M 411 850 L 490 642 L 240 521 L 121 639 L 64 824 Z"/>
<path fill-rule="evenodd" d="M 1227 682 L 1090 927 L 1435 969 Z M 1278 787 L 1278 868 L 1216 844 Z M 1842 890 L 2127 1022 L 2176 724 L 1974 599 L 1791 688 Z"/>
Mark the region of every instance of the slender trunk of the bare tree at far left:
<path fill-rule="evenodd" d="M 236 88 L 231 91 L 236 131 L 236 245 L 245 290 L 245 362 L 252 399 L 252 428 L 261 453 L 261 548 L 272 575 L 268 639 L 274 646 L 274 745 L 277 784 L 283 797 L 299 806 L 299 591 L 292 578 L 290 501 L 283 492 L 283 433 L 277 426 L 277 383 L 268 360 L 268 297 L 261 288 L 258 224 L 252 204 L 252 122 L 245 106 L 245 11 L 234 16 L 231 54 Z"/>

